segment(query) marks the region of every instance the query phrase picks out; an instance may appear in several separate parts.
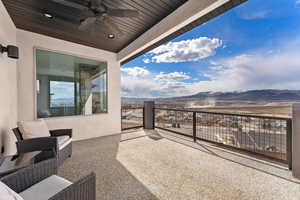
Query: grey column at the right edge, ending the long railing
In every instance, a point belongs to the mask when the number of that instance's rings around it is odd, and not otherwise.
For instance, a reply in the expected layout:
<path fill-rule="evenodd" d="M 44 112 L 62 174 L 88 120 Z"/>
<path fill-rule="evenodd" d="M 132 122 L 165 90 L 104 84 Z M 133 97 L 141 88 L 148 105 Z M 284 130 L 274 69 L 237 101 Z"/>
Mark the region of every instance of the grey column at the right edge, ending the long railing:
<path fill-rule="evenodd" d="M 300 179 L 300 103 L 293 104 L 292 172 Z"/>

